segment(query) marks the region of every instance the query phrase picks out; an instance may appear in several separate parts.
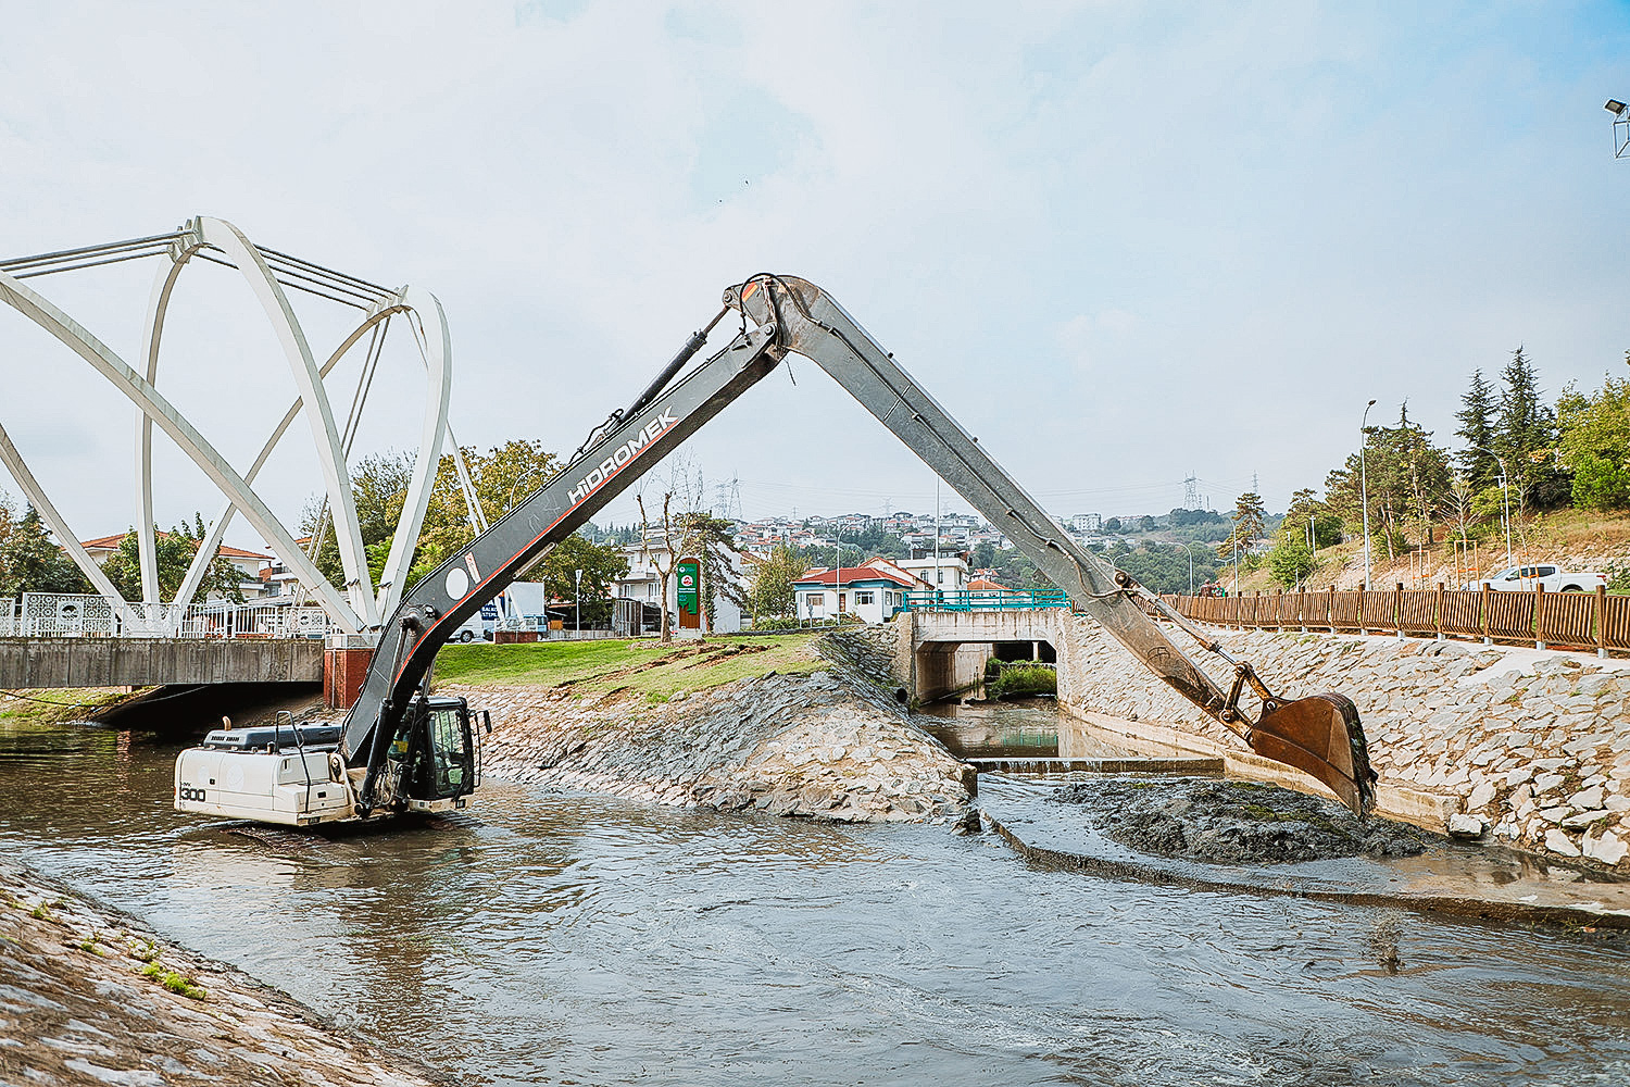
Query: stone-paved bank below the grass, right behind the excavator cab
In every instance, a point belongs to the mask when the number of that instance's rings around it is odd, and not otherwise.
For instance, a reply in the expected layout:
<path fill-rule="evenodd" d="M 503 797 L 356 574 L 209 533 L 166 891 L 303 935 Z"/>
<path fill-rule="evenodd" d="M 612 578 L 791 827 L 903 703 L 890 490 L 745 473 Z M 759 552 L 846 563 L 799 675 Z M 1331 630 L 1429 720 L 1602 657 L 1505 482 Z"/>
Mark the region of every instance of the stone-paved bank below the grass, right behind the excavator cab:
<path fill-rule="evenodd" d="M 507 781 L 835 821 L 962 815 L 975 774 L 911 725 L 888 686 L 888 654 L 866 634 L 825 639 L 818 652 L 828 660 L 815 671 L 660 702 L 575 683 L 437 689 L 491 711 L 486 766 Z"/>

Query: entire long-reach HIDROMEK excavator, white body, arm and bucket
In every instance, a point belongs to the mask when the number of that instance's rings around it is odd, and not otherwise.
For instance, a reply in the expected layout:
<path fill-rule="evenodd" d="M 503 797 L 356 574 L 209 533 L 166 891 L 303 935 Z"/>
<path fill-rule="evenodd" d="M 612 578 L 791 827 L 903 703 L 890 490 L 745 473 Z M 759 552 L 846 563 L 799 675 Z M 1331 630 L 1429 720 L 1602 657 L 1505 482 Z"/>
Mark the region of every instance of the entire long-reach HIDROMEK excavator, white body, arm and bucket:
<path fill-rule="evenodd" d="M 717 354 L 681 370 L 735 313 L 740 331 Z M 1123 570 L 1076 546 L 843 306 L 813 284 L 760 274 L 724 292 L 724 308 L 694 332 L 628 407 L 611 412 L 570 463 L 468 548 L 406 593 L 381 631 L 362 693 L 341 725 L 209 733 L 176 761 L 176 808 L 306 826 L 399 812 L 461 808 L 479 782 L 479 730 L 463 699 L 425 688 L 442 645 L 615 495 L 676 448 L 789 354 L 815 362 L 893 430 L 1151 671 L 1250 750 L 1324 782 L 1359 816 L 1374 805 L 1374 772 L 1353 702 L 1341 694 L 1294 701 L 1268 689 Z M 1224 691 L 1167 637 L 1161 614 L 1232 667 Z M 1240 706 L 1260 699 L 1255 720 Z"/>

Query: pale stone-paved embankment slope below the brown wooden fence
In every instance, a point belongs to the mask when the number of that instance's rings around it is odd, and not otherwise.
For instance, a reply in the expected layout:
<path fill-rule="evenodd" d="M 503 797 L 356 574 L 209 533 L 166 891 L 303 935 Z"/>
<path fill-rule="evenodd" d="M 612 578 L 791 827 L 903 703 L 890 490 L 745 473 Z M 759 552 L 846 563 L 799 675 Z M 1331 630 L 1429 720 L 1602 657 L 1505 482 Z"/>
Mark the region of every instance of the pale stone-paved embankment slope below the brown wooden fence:
<path fill-rule="evenodd" d="M 1469 813 L 1493 841 L 1630 872 L 1627 662 L 1467 642 L 1208 632 L 1284 698 L 1353 699 L 1384 813 L 1431 830 Z M 1060 701 L 1089 724 L 1224 755 L 1232 772 L 1273 776 L 1095 623 L 1071 618 L 1063 637 Z"/>

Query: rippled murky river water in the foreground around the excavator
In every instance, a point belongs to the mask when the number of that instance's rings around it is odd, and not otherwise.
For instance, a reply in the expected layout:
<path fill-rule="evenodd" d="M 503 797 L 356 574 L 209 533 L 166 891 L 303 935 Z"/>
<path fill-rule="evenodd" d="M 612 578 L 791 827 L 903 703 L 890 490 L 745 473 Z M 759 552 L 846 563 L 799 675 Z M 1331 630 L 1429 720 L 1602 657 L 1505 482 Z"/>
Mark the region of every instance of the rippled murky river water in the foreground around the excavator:
<path fill-rule="evenodd" d="M 174 753 L 0 724 L 0 849 L 471 1084 L 1630 1082 L 1589 937 L 509 786 L 269 847 L 173 812 Z"/>

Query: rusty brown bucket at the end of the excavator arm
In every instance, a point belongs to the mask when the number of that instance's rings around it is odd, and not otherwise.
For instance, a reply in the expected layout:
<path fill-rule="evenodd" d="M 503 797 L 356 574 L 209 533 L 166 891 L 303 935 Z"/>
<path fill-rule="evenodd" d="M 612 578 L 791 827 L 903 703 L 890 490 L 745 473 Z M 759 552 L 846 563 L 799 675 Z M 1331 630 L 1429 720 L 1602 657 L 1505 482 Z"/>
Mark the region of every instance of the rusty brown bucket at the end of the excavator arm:
<path fill-rule="evenodd" d="M 1312 774 L 1361 820 L 1376 807 L 1364 727 L 1345 694 L 1314 694 L 1265 712 L 1250 730 L 1250 746 Z"/>

